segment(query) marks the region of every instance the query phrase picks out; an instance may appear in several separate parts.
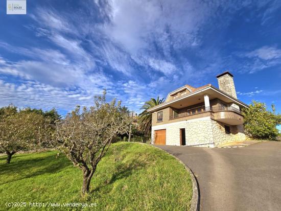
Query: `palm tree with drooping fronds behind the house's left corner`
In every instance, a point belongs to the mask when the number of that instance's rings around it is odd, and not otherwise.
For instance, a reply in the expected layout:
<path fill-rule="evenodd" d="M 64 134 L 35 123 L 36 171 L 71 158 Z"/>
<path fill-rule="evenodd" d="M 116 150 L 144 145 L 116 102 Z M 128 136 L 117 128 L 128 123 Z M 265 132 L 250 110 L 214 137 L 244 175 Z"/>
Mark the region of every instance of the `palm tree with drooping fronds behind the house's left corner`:
<path fill-rule="evenodd" d="M 161 104 L 163 100 L 163 98 L 159 100 L 159 96 L 157 99 L 151 98 L 149 101 L 145 102 L 142 108 L 140 108 L 140 110 L 144 109 L 144 111 L 139 114 L 139 128 L 147 135 L 151 133 L 152 122 L 152 113 L 148 112 L 147 110 Z"/>

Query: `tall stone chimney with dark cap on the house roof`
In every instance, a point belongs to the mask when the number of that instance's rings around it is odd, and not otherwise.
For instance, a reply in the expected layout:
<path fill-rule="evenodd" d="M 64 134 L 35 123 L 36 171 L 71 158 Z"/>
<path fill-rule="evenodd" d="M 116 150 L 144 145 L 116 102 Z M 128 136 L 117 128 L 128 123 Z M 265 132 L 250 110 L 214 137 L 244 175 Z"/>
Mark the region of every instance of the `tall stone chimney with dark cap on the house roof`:
<path fill-rule="evenodd" d="M 233 98 L 237 98 L 233 81 L 233 75 L 228 71 L 217 76 L 220 90 L 228 93 Z"/>

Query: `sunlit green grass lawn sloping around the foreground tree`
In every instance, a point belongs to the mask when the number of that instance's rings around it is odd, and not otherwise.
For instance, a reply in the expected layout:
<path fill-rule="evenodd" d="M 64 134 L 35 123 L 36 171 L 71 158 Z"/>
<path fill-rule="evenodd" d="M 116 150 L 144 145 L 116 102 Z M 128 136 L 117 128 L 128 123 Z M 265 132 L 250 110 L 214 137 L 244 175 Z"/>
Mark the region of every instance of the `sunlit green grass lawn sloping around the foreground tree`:
<path fill-rule="evenodd" d="M 174 157 L 149 145 L 120 142 L 110 146 L 81 196 L 82 173 L 56 151 L 0 157 L 0 210 L 6 202 L 27 202 L 10 210 L 187 210 L 190 175 Z M 38 203 L 97 203 L 96 207 L 30 207 Z"/>

